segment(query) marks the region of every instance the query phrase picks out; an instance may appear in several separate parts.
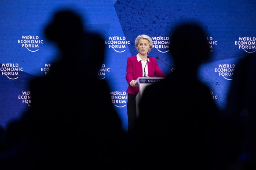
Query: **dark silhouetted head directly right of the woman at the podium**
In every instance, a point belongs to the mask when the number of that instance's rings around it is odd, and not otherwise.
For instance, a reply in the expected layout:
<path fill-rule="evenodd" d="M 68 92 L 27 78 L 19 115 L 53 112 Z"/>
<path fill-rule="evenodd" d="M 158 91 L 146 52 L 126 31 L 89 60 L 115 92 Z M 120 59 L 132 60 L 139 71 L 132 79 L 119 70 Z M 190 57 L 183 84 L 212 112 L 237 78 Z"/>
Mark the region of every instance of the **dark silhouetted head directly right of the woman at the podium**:
<path fill-rule="evenodd" d="M 169 52 L 177 68 L 197 68 L 209 60 L 210 47 L 205 30 L 197 23 L 178 25 L 170 34 Z"/>

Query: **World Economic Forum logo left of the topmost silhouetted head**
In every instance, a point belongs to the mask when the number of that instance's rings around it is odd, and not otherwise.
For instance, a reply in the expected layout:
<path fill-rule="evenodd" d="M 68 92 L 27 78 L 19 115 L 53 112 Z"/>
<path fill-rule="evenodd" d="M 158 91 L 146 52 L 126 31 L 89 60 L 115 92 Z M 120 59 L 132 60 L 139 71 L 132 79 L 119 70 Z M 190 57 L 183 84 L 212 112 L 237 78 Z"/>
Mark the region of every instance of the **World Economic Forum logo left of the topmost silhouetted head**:
<path fill-rule="evenodd" d="M 22 39 L 18 39 L 18 44 L 22 44 L 22 48 L 26 48 L 30 52 L 37 52 L 39 45 L 43 44 L 44 40 L 39 39 L 39 36 L 22 35 Z"/>

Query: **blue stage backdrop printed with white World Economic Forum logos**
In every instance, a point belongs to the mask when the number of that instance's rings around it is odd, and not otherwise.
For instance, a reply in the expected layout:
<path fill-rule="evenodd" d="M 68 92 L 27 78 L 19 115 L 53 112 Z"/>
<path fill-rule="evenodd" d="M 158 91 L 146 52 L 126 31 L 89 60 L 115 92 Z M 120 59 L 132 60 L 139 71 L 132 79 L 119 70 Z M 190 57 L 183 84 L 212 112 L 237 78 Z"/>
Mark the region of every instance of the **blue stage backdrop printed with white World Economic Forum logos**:
<path fill-rule="evenodd" d="M 168 54 L 171 41 L 168 32 L 179 21 L 200 21 L 209 32 L 212 59 L 201 65 L 198 75 L 212 90 L 212 98 L 220 109 L 226 106 L 236 62 L 246 53 L 256 51 L 254 0 L 2 0 L 0 125 L 3 127 L 30 107 L 28 81 L 47 74 L 51 62 L 57 59 L 58 51 L 45 38 L 44 28 L 60 9 L 75 9 L 86 29 L 105 39 L 106 60 L 99 69 L 99 78 L 110 84 L 113 106 L 124 129 L 128 126 L 126 60 L 137 54 L 134 41 L 138 35 L 146 34 L 153 39 L 154 48 L 149 56 L 159 57 L 173 67 Z M 157 62 L 165 74 L 171 72 L 162 61 Z M 187 91 L 193 99 L 196 93 L 193 89 Z M 95 101 L 95 105 L 100 106 L 101 100 Z"/>

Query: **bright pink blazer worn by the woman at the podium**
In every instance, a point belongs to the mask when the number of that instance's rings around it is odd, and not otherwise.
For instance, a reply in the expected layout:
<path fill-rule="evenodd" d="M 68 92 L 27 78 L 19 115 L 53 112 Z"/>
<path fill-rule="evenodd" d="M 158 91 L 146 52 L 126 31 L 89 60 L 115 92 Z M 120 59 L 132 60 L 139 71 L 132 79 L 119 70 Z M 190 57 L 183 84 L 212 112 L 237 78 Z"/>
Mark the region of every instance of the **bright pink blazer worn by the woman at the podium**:
<path fill-rule="evenodd" d="M 147 63 L 148 76 L 149 77 L 166 77 L 165 73 L 161 71 L 157 64 L 157 59 L 154 57 L 149 57 L 149 62 Z M 132 95 L 137 95 L 139 93 L 139 87 L 132 87 L 130 82 L 136 80 L 139 77 L 143 77 L 143 69 L 141 61 L 138 62 L 137 56 L 128 57 L 126 65 L 126 81 L 128 83 L 127 93 Z"/>

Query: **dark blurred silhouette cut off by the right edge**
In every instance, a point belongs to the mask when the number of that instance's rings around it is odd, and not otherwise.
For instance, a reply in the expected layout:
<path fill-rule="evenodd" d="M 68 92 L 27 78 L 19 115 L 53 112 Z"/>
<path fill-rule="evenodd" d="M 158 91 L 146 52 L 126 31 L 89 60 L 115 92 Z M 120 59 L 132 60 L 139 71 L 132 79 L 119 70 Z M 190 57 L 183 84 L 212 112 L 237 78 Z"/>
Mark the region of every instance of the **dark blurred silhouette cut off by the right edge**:
<path fill-rule="evenodd" d="M 223 110 L 223 164 L 226 170 L 256 169 L 256 54 L 236 64 Z"/>

